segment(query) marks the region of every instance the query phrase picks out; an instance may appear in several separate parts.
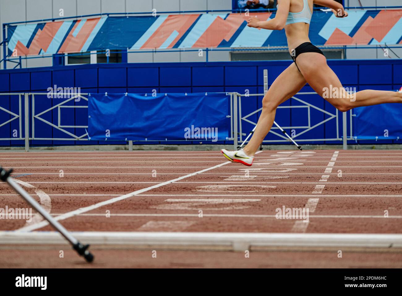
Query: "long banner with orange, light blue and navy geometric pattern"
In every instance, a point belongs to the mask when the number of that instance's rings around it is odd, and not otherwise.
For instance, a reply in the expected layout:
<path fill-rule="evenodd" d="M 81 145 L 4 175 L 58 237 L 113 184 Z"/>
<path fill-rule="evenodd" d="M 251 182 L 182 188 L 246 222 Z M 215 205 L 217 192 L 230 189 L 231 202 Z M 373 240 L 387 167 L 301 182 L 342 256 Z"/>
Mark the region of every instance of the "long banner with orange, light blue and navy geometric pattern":
<path fill-rule="evenodd" d="M 261 20 L 272 12 L 250 13 Z M 25 56 L 89 50 L 241 48 L 287 46 L 284 31 L 247 27 L 247 16 L 170 14 L 100 17 L 8 26 L 9 55 Z M 339 19 L 316 11 L 310 27 L 315 45 L 402 44 L 402 10 L 351 10 Z"/>

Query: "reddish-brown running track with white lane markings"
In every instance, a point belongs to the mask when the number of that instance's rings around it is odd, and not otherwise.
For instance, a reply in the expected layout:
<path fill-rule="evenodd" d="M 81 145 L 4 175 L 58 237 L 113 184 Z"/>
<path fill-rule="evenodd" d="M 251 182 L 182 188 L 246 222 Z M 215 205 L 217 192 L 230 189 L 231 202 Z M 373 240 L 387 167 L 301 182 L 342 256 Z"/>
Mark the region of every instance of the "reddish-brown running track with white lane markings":
<path fill-rule="evenodd" d="M 215 151 L 5 152 L 0 164 L 71 231 L 402 233 L 398 150 L 263 151 L 252 167 Z M 0 208 L 28 207 L 7 184 L 0 192 Z M 308 208 L 308 223 L 277 219 L 283 207 Z M 34 219 L 3 220 L 0 230 L 52 230 Z M 73 254 L 57 260 L 55 246 L 0 247 L 0 267 L 82 267 Z M 402 267 L 398 249 L 338 258 L 335 249 L 282 248 L 246 262 L 227 250 L 161 250 L 147 260 L 152 250 L 99 246 L 92 267 Z"/>

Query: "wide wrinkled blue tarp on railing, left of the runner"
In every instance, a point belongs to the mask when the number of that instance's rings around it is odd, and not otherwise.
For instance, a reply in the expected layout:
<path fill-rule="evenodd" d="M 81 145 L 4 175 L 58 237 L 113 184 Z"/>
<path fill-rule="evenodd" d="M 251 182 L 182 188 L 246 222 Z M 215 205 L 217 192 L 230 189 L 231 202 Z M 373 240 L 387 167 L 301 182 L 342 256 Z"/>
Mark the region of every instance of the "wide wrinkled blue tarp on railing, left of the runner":
<path fill-rule="evenodd" d="M 216 142 L 230 137 L 230 96 L 225 93 L 95 93 L 88 98 L 91 140 Z"/>

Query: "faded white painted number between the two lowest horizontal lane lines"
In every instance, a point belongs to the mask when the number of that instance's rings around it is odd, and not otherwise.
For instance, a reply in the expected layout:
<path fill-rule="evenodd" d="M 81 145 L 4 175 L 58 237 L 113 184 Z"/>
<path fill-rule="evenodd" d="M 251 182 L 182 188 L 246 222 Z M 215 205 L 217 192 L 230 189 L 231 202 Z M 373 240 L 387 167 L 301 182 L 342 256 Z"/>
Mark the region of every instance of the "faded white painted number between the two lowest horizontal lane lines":
<path fill-rule="evenodd" d="M 210 207 L 208 205 L 218 205 L 218 204 L 232 204 L 232 203 L 248 203 L 248 202 L 258 202 L 260 199 L 166 199 L 167 203 L 174 204 L 161 204 L 152 206 L 152 209 L 160 210 L 208 210 L 208 211 L 221 211 L 221 210 L 239 210 L 247 209 L 249 206 L 229 206 L 229 207 Z"/>

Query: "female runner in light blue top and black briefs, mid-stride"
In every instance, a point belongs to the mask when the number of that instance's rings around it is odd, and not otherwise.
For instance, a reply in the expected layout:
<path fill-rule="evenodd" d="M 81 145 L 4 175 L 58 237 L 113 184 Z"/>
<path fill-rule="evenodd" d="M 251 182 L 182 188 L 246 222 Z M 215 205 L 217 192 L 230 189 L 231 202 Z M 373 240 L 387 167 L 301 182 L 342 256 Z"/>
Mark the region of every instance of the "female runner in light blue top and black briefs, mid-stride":
<path fill-rule="evenodd" d="M 272 127 L 277 107 L 298 93 L 306 83 L 341 112 L 381 103 L 402 103 L 402 88 L 399 92 L 367 89 L 353 95 L 345 91 L 334 71 L 327 65 L 322 51 L 314 46 L 308 37 L 313 4 L 331 8 L 336 17 L 348 16 L 342 4 L 334 0 L 278 0 L 274 19 L 269 21 L 260 21 L 257 17 L 248 19 L 248 27 L 267 30 L 284 28 L 293 63 L 275 79 L 265 94 L 257 127 L 244 149 L 221 150 L 230 161 L 240 162 L 246 166 L 252 165 L 254 153 Z M 332 91 L 337 89 L 334 92 L 336 95 L 328 95 L 328 89 Z"/>

